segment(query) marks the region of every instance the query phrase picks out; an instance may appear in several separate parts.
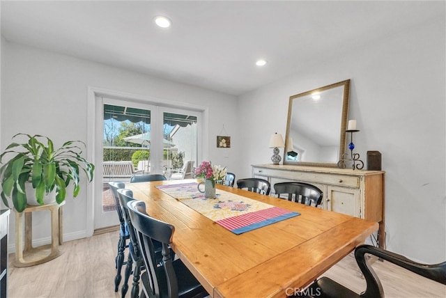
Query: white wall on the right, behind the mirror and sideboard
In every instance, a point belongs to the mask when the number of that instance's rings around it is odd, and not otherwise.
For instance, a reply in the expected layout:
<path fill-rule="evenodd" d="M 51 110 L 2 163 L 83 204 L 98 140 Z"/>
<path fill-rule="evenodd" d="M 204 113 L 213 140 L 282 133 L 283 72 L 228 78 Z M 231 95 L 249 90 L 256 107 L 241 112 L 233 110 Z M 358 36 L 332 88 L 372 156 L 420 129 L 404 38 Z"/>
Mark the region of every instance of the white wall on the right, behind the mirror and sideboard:
<path fill-rule="evenodd" d="M 355 151 L 364 162 L 367 150 L 383 155 L 387 248 L 446 260 L 444 17 L 240 97 L 242 175 L 270 163 L 268 139 L 286 131 L 289 96 L 344 79 L 351 79 L 349 118 L 360 130 Z"/>

